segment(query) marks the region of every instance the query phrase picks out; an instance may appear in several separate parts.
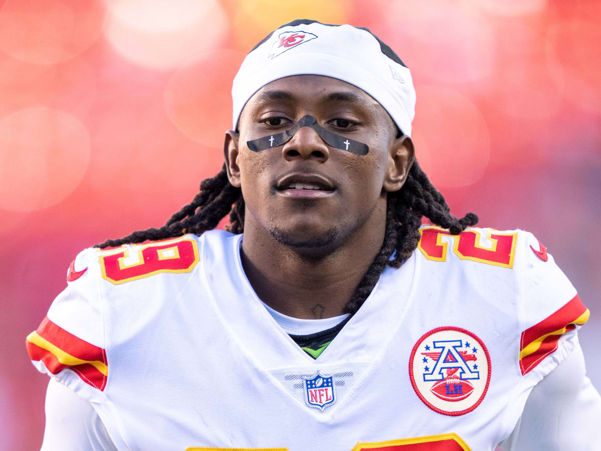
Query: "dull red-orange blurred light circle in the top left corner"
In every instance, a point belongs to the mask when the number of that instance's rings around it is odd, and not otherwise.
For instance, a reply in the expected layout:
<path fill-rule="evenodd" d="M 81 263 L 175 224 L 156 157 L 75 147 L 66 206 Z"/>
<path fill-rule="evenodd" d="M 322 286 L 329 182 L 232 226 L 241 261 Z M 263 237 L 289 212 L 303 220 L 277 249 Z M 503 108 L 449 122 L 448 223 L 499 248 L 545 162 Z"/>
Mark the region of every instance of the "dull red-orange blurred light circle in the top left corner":
<path fill-rule="evenodd" d="M 104 19 L 100 1 L 6 0 L 0 10 L 0 49 L 29 63 L 58 63 L 87 49 Z"/>

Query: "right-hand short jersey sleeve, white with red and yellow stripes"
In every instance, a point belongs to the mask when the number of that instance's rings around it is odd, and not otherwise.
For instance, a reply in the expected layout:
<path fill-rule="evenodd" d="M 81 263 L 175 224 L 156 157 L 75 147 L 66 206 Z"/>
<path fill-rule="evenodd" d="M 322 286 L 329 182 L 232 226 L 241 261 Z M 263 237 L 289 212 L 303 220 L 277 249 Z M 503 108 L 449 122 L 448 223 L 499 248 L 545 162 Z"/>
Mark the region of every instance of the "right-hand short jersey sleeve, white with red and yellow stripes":
<path fill-rule="evenodd" d="M 575 348 L 589 311 L 546 248 L 531 233 L 522 237 L 519 368 L 540 380 Z"/>

